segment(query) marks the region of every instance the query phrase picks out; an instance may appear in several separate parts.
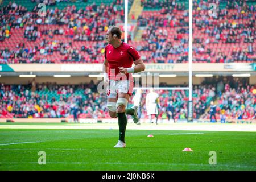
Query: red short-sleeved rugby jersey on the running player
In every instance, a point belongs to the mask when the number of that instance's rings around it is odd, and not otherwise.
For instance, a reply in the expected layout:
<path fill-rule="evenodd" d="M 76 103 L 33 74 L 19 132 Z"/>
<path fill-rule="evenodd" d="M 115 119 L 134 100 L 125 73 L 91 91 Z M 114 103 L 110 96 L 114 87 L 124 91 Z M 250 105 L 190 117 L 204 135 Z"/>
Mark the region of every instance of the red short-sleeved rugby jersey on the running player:
<path fill-rule="evenodd" d="M 130 68 L 133 65 L 133 61 L 138 60 L 140 57 L 136 49 L 125 42 L 122 42 L 121 46 L 117 48 L 108 44 L 105 47 L 105 59 L 108 60 L 109 64 L 109 80 L 122 80 L 123 74 L 119 72 L 118 67 Z M 114 71 L 110 73 L 113 69 Z M 126 78 L 133 80 L 131 73 L 127 73 Z"/>

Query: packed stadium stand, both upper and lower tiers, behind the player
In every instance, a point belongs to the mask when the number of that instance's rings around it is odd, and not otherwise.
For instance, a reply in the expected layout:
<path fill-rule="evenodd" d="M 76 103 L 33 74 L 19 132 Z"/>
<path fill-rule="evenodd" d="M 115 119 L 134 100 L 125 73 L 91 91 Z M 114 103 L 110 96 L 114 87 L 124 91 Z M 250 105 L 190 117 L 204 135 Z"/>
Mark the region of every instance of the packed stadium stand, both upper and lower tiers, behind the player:
<path fill-rule="evenodd" d="M 46 17 L 38 4 L 46 3 Z M 129 1 L 130 6 L 133 1 Z M 255 1 L 219 2 L 217 16 L 209 17 L 211 1 L 193 2 L 193 63 L 255 63 Z M 188 2 L 142 0 L 143 11 L 131 39 L 145 63 L 188 62 Z M 105 31 L 124 22 L 123 1 L 3 1 L 0 6 L 0 64 L 102 63 Z M 95 13 L 97 12 L 97 13 Z M 232 82 L 232 81 L 231 81 Z M 227 82 L 228 84 L 230 83 Z M 213 84 L 193 86 L 194 118 L 209 119 L 210 101 L 217 105 L 217 119 L 255 119 L 255 85 L 237 81 L 220 89 Z M 169 86 L 162 84 L 161 86 Z M 174 85 L 170 85 L 174 86 Z M 146 93 L 143 93 L 146 94 Z M 170 101 L 175 118 L 187 113 L 188 92 L 160 90 L 159 118 L 167 117 Z M 96 84 L 1 85 L 0 118 L 72 117 L 109 118 L 105 95 Z M 132 98 L 131 98 L 132 99 Z M 142 118 L 147 118 L 142 98 Z"/>

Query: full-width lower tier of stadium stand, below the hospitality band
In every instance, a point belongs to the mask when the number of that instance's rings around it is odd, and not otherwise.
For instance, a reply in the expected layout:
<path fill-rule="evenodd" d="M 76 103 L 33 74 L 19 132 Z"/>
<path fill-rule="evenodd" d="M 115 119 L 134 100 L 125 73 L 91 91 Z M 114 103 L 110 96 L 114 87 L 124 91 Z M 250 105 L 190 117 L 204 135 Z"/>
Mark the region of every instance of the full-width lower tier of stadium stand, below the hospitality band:
<path fill-rule="evenodd" d="M 161 83 L 159 86 L 174 86 Z M 177 85 L 180 86 L 180 85 Z M 172 101 L 175 119 L 187 117 L 188 92 L 159 90 L 159 118 L 167 118 L 167 106 Z M 146 94 L 144 92 L 142 94 Z M 209 119 L 210 101 L 217 104 L 217 119 L 255 119 L 255 85 L 229 79 L 218 84 L 193 86 L 194 118 Z M 110 118 L 104 93 L 97 92 L 97 84 L 59 85 L 54 83 L 5 85 L 0 87 L 0 118 L 72 118 L 79 107 L 79 118 Z M 130 98 L 132 100 L 133 96 Z M 141 118 L 147 119 L 146 97 L 142 97 Z"/>

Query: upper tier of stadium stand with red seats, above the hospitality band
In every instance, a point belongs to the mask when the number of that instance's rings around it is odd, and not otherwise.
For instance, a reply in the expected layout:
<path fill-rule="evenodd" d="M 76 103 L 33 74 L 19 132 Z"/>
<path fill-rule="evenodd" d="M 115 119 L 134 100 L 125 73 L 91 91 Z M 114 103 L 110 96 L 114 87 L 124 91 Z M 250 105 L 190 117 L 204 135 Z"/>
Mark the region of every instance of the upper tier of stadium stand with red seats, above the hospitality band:
<path fill-rule="evenodd" d="M 0 63 L 102 63 L 106 28 L 124 22 L 123 1 L 48 1 L 47 18 L 37 15 L 39 2 L 3 1 Z M 255 1 L 220 1 L 217 17 L 207 16 L 209 2 L 193 4 L 194 63 L 255 61 Z M 187 2 L 141 5 L 143 34 L 129 43 L 146 63 L 187 63 Z"/>

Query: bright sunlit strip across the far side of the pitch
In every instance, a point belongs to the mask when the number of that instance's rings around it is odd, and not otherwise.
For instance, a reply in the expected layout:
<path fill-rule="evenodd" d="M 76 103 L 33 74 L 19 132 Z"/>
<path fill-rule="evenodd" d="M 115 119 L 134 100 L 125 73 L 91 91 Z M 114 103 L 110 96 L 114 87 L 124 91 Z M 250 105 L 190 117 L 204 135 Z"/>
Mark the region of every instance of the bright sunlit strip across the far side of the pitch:
<path fill-rule="evenodd" d="M 131 119 L 130 119 L 131 120 Z M 132 121 L 132 120 L 131 120 Z M 129 121 L 128 121 L 129 122 Z M 56 123 L 56 125 L 29 125 L 24 123 L 24 125 L 0 125 L 0 129 L 60 129 L 60 130 L 118 130 L 117 122 L 113 123 L 80 123 L 74 125 L 72 123 L 67 123 L 61 125 Z M 135 125 L 134 123 L 129 123 L 127 125 L 127 130 L 170 130 L 170 131 L 187 131 L 190 133 L 204 132 L 204 131 L 241 131 L 241 132 L 256 132 L 256 124 L 236 124 L 236 123 L 160 123 L 159 125 L 152 125 L 151 123 L 142 123 L 141 125 Z M 59 131 L 60 132 L 60 131 Z"/>

